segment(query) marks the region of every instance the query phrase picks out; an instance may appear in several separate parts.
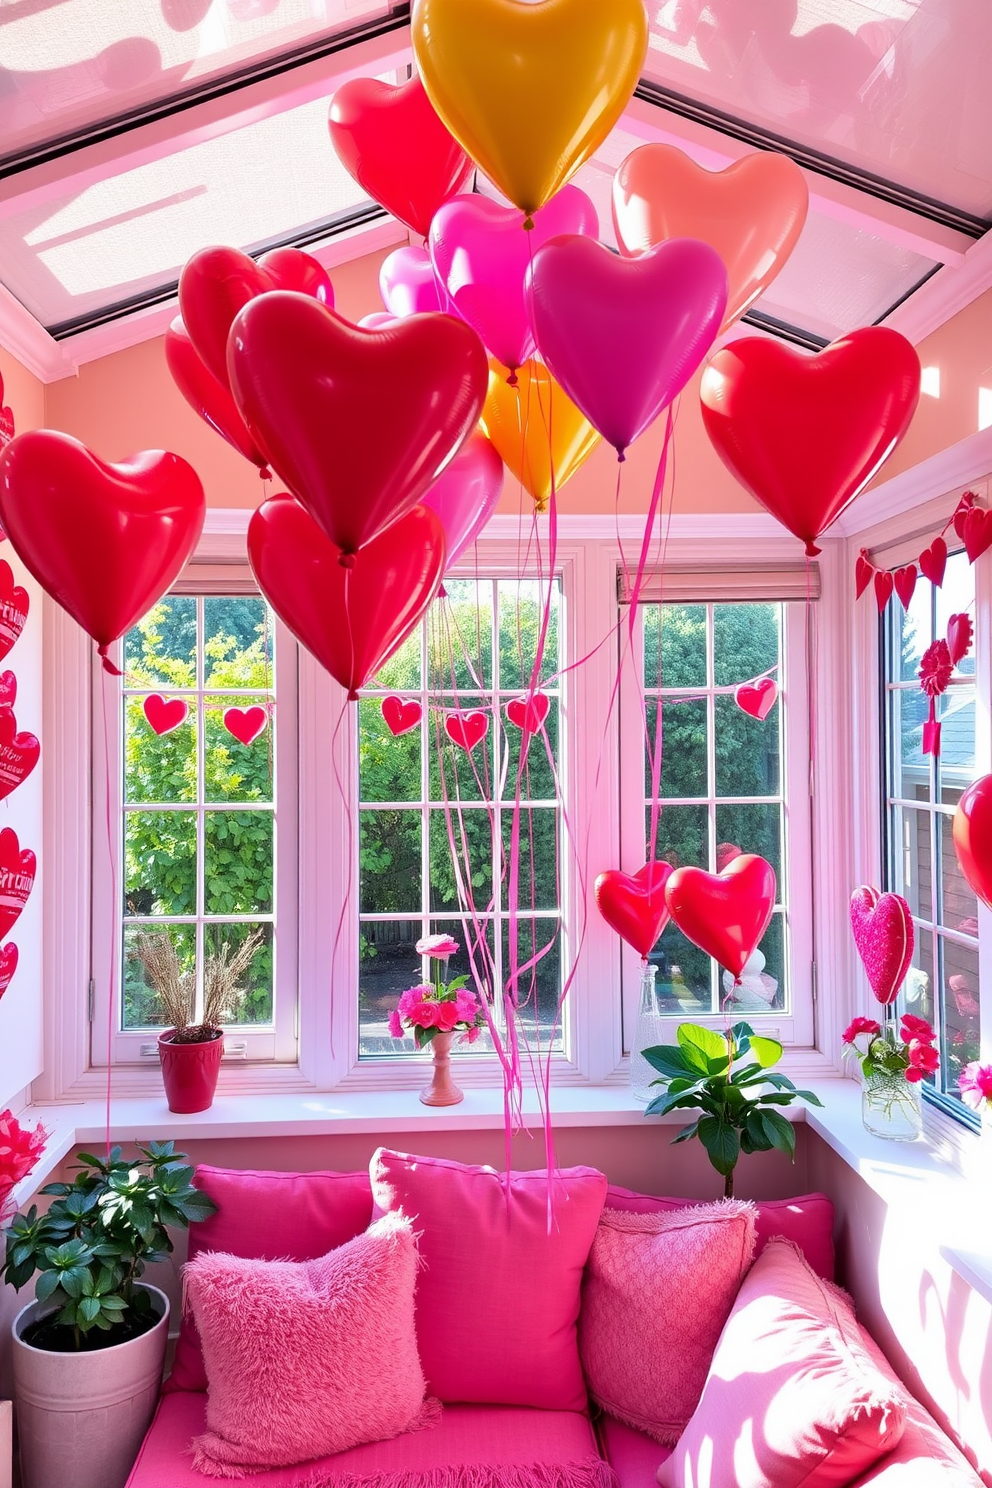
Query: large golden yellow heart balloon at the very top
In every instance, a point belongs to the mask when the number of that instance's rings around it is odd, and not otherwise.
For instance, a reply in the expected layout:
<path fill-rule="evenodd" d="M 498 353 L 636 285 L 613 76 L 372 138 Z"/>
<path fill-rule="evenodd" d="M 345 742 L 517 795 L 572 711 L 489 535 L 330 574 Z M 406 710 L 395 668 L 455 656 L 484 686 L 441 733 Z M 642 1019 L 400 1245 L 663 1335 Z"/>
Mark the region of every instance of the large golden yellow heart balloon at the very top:
<path fill-rule="evenodd" d="M 602 144 L 647 55 L 644 0 L 413 0 L 427 95 L 528 216 Z"/>

